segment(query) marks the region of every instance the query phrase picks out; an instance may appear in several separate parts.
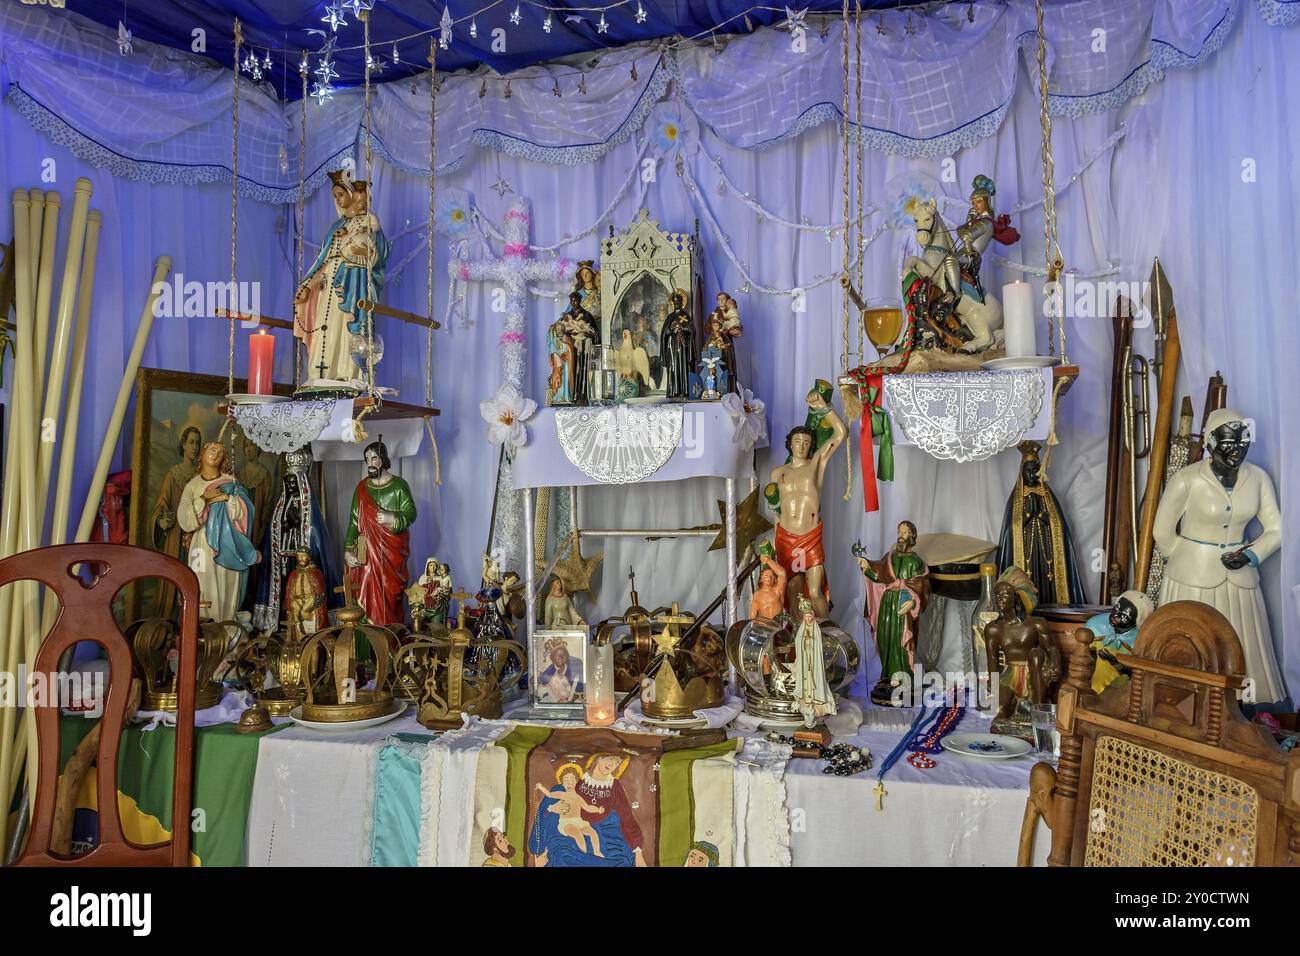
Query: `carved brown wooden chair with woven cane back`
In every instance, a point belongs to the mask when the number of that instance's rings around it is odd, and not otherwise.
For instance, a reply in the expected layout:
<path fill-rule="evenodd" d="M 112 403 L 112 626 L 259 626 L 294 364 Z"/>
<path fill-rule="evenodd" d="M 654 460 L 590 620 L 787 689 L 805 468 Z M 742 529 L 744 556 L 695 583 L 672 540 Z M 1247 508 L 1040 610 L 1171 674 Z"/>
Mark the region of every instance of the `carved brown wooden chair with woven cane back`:
<path fill-rule="evenodd" d="M 1031 771 L 1019 865 L 1041 816 L 1049 866 L 1290 866 L 1300 861 L 1300 752 L 1240 711 L 1227 619 L 1175 601 L 1143 626 L 1126 687 L 1092 693 L 1093 637 L 1075 632 L 1057 700 L 1060 769 Z"/>

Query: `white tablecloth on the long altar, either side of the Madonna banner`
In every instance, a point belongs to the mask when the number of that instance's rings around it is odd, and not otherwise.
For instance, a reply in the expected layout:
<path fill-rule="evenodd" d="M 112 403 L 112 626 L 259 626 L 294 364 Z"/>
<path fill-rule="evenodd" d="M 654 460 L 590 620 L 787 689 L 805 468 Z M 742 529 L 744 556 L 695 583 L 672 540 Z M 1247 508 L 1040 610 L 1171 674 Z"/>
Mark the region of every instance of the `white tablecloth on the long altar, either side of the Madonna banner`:
<path fill-rule="evenodd" d="M 961 724 L 962 731 L 985 728 L 987 721 L 974 714 Z M 248 865 L 368 865 L 376 757 L 396 734 L 429 732 L 407 713 L 356 732 L 291 727 L 263 737 L 248 812 Z M 837 743 L 868 747 L 879 767 L 901 734 L 868 730 Z M 454 761 L 456 753 L 439 757 Z M 885 777 L 885 809 L 878 812 L 875 769 L 844 778 L 823 774 L 822 761 L 790 760 L 783 787 L 770 774 L 749 773 L 741 754 L 737 860 L 790 858 L 796 866 L 1013 866 L 1035 762 L 1032 756 L 987 761 L 942 753 L 932 770 L 918 770 L 902 758 Z M 446 769 L 438 775 L 446 806 L 458 805 L 446 792 L 454 779 L 468 778 Z M 789 826 L 776 810 L 783 800 Z M 430 840 L 463 843 L 455 836 L 465 830 L 459 816 L 422 817 L 422 864 L 441 857 Z M 1049 848 L 1050 835 L 1040 823 L 1035 865 L 1046 861 Z M 463 856 L 459 848 L 455 855 Z"/>

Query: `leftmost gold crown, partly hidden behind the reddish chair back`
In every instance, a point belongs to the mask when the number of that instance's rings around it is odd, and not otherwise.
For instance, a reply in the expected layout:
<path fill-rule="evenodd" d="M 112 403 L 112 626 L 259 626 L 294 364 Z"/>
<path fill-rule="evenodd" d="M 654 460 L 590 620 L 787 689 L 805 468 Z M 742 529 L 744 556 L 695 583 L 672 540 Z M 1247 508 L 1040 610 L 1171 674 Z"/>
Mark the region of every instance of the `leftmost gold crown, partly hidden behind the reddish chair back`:
<path fill-rule="evenodd" d="M 181 701 L 176 685 L 177 636 L 181 626 L 165 618 L 136 620 L 126 628 L 131 644 L 135 672 L 144 685 L 140 693 L 142 710 L 174 711 Z M 211 708 L 221 700 L 221 684 L 213 678 L 221 659 L 243 636 L 243 628 L 234 620 L 204 620 L 199 624 L 199 661 L 195 671 L 198 710 Z"/>

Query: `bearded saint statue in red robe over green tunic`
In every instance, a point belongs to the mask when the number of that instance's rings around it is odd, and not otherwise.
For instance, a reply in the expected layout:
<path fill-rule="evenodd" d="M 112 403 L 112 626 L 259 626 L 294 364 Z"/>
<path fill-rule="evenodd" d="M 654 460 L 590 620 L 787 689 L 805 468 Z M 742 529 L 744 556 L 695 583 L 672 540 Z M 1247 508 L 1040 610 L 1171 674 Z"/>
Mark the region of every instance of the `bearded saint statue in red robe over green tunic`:
<path fill-rule="evenodd" d="M 352 494 L 343 557 L 367 620 L 386 627 L 406 619 L 402 594 L 415 499 L 411 486 L 389 471 L 393 464 L 382 441 L 367 445 L 364 458 L 367 476 Z"/>

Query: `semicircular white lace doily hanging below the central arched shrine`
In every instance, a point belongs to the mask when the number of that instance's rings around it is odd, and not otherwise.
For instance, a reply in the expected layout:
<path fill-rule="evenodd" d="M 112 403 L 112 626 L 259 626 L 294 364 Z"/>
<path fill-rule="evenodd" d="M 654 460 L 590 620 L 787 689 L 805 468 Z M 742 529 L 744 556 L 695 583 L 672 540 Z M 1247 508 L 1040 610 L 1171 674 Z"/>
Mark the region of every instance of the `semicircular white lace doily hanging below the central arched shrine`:
<path fill-rule="evenodd" d="M 602 484 L 654 475 L 681 444 L 681 405 L 558 408 L 555 431 L 576 468 Z"/>

